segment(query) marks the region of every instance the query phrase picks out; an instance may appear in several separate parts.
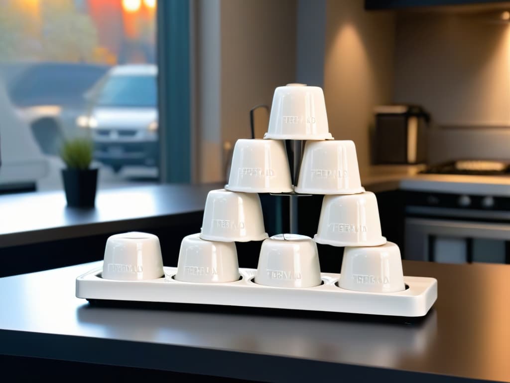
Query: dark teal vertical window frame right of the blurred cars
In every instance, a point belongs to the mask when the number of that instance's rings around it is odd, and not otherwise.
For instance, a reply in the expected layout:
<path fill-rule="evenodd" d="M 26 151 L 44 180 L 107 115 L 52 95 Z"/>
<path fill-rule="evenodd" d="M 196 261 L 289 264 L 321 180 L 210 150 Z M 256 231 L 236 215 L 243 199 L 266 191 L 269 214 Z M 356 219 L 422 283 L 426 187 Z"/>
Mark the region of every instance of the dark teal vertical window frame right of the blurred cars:
<path fill-rule="evenodd" d="M 191 182 L 190 5 L 164 0 L 157 8 L 157 64 L 162 183 Z"/>

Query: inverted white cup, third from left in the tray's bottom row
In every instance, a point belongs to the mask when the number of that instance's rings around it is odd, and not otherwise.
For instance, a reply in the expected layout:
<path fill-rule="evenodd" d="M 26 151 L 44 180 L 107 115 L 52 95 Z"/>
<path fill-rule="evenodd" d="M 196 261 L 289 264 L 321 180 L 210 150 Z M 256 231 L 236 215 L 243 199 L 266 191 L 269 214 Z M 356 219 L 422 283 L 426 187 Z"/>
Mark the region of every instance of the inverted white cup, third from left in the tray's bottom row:
<path fill-rule="evenodd" d="M 255 282 L 282 288 L 320 285 L 317 245 L 306 235 L 273 235 L 262 243 Z"/>

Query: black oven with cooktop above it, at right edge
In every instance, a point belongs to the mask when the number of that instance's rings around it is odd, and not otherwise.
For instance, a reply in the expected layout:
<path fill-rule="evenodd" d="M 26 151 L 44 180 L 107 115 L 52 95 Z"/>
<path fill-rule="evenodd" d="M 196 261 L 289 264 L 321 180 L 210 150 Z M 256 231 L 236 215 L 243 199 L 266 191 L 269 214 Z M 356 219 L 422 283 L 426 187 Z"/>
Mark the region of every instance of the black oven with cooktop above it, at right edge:
<path fill-rule="evenodd" d="M 506 177 L 510 165 L 458 160 L 429 166 L 422 173 Z M 491 195 L 483 179 L 469 180 L 480 187 L 465 192 L 445 186 L 449 181 L 453 180 L 429 180 L 428 191 L 405 191 L 405 258 L 510 264 L 510 197 Z"/>

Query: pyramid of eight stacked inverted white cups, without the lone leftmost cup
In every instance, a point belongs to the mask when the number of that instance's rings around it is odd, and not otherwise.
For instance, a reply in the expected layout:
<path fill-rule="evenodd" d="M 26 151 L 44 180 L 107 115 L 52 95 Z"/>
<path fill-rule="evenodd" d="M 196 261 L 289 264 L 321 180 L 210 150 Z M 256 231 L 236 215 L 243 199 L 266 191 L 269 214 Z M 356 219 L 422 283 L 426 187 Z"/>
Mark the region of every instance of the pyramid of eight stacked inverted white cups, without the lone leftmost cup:
<path fill-rule="evenodd" d="M 305 140 L 297 185 L 284 140 Z M 268 238 L 258 193 L 324 195 L 317 234 Z M 354 142 L 329 133 L 320 87 L 275 89 L 264 139 L 236 142 L 224 189 L 206 201 L 201 232 L 184 238 L 175 279 L 239 279 L 235 242 L 263 241 L 254 282 L 285 288 L 322 283 L 317 245 L 345 247 L 340 288 L 363 292 L 405 289 L 400 251 L 381 234 L 377 200 L 361 185 Z"/>

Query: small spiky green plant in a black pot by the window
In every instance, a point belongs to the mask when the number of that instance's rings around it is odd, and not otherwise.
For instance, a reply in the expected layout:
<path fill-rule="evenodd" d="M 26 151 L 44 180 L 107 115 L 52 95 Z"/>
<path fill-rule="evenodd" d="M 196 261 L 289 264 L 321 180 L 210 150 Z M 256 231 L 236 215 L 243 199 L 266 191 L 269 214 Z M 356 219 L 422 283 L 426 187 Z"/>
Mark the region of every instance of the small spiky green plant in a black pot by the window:
<path fill-rule="evenodd" d="M 93 146 L 88 138 L 64 141 L 60 156 L 67 165 L 62 169 L 67 206 L 94 207 L 97 169 L 90 169 Z"/>

